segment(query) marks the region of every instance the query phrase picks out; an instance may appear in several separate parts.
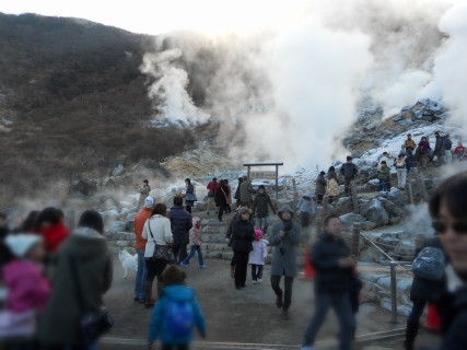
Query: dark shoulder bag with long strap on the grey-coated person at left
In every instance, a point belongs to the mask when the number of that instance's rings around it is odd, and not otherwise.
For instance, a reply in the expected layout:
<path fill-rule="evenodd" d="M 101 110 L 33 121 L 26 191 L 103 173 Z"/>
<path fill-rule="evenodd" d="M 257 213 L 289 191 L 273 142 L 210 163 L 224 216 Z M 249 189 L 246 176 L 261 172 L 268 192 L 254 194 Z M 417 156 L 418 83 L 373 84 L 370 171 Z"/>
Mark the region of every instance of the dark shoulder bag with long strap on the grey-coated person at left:
<path fill-rule="evenodd" d="M 102 306 L 97 312 L 86 312 L 84 307 L 83 300 L 83 289 L 81 287 L 81 281 L 78 276 L 77 265 L 72 260 L 71 256 L 68 257 L 68 261 L 71 268 L 71 276 L 74 280 L 75 292 L 78 298 L 78 304 L 80 307 L 80 322 L 79 330 L 81 334 L 81 339 L 84 340 L 86 345 L 90 345 L 97 340 L 100 336 L 108 331 L 114 326 L 114 319 L 108 313 L 105 306 Z"/>

